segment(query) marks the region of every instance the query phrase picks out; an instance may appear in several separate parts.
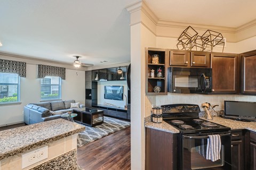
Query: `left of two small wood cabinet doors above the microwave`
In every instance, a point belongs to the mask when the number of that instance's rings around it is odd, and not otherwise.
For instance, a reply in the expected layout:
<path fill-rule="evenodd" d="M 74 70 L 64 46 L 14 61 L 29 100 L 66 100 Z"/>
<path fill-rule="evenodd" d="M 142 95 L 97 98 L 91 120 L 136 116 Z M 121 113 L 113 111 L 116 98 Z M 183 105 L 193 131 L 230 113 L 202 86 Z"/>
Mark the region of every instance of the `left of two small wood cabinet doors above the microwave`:
<path fill-rule="evenodd" d="M 189 66 L 189 57 L 187 51 L 171 50 L 170 65 L 171 66 Z"/>

